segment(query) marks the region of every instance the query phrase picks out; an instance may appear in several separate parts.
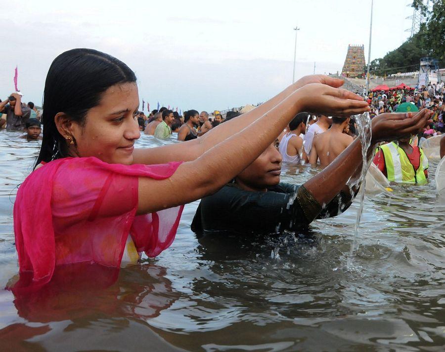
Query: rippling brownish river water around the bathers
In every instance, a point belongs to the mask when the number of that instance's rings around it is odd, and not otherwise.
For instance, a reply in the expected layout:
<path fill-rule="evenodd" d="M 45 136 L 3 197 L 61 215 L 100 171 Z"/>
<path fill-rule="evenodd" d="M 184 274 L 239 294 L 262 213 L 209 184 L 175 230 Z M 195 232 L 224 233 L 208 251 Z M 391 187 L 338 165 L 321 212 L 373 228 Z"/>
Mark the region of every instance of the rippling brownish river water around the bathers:
<path fill-rule="evenodd" d="M 39 148 L 18 135 L 0 131 L 1 287 L 18 272 L 12 204 Z M 162 143 L 174 142 L 137 145 Z M 282 181 L 314 172 L 284 165 Z M 89 281 L 50 294 L 1 290 L 0 351 L 444 351 L 445 200 L 433 185 L 366 195 L 351 266 L 357 202 L 310 234 L 199 240 L 198 202 L 187 204 L 173 245 L 111 285 L 86 268 Z"/>

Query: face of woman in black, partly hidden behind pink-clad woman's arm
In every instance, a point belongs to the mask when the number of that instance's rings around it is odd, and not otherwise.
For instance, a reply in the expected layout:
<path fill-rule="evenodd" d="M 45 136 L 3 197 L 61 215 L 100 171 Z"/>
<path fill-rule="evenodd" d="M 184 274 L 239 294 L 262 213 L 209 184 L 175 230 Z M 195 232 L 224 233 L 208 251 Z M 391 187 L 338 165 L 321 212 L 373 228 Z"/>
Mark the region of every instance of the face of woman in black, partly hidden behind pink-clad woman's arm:
<path fill-rule="evenodd" d="M 280 182 L 281 161 L 278 151 L 278 139 L 258 156 L 249 166 L 235 177 L 235 182 L 242 189 L 249 191 L 266 191 L 267 187 Z"/>

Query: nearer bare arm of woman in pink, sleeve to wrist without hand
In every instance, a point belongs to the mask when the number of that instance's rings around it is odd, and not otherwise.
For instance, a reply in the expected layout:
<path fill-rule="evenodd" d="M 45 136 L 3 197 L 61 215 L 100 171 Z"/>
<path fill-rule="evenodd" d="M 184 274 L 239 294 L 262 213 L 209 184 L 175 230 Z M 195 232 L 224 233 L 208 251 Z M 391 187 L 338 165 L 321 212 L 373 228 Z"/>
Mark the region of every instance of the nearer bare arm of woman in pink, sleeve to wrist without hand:
<path fill-rule="evenodd" d="M 298 111 L 299 103 L 289 97 L 202 156 L 181 164 L 168 180 L 140 178 L 138 213 L 185 204 L 216 192 L 254 161 Z"/>

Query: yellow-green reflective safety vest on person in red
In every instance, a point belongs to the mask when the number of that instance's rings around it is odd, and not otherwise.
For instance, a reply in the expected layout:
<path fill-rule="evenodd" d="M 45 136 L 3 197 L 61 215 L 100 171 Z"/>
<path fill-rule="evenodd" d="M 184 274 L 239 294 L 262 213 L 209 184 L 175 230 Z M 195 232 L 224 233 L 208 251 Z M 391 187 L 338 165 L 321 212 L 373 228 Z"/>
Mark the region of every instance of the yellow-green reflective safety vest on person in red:
<path fill-rule="evenodd" d="M 424 170 L 428 169 L 428 158 L 424 155 L 422 148 L 420 150 L 420 165 L 417 171 L 409 162 L 408 156 L 403 149 L 396 143 L 391 142 L 380 146 L 385 156 L 386 173 L 389 181 L 418 183 L 428 182 Z"/>

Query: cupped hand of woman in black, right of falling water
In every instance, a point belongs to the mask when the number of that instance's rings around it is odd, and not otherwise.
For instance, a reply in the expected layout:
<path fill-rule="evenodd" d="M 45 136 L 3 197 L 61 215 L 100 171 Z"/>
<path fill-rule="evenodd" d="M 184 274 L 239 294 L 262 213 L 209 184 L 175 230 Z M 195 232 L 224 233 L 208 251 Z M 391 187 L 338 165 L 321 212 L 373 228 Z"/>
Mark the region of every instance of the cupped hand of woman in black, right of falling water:
<path fill-rule="evenodd" d="M 428 123 L 433 112 L 422 109 L 413 113 L 386 113 L 376 116 L 371 121 L 372 142 L 390 141 L 421 132 Z"/>

